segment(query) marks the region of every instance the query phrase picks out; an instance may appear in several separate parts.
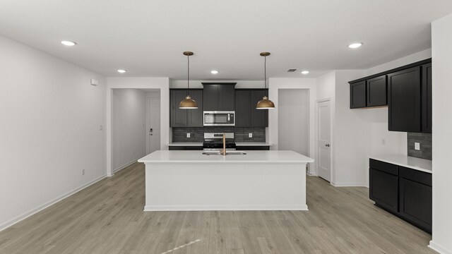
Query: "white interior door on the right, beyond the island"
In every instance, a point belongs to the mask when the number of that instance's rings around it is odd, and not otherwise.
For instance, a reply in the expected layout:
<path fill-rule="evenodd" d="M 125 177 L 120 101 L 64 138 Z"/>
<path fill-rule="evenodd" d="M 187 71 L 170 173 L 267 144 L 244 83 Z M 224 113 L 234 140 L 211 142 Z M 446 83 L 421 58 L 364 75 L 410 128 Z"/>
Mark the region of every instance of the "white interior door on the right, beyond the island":
<path fill-rule="evenodd" d="M 319 124 L 318 138 L 318 174 L 326 181 L 331 181 L 331 105 L 330 101 L 317 103 Z"/>

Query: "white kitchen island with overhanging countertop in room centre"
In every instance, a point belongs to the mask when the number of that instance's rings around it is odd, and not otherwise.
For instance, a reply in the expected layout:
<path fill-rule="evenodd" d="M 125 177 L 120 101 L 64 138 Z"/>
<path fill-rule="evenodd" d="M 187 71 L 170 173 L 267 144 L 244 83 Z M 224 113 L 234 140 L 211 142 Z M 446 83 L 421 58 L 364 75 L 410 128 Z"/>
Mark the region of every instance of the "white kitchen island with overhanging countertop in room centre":
<path fill-rule="evenodd" d="M 145 164 L 145 211 L 307 210 L 306 164 L 293 151 L 203 155 L 159 150 Z"/>

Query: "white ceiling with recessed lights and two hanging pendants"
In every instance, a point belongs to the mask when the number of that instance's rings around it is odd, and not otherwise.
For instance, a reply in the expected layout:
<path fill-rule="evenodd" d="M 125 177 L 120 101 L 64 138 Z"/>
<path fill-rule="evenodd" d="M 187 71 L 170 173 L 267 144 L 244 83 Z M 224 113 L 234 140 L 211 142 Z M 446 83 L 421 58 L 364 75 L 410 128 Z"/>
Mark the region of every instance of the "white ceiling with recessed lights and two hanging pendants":
<path fill-rule="evenodd" d="M 314 78 L 428 49 L 448 13 L 450 0 L 2 0 L 0 35 L 107 76 L 182 80 L 193 51 L 193 79 L 259 80 L 268 51 L 269 77 Z"/>

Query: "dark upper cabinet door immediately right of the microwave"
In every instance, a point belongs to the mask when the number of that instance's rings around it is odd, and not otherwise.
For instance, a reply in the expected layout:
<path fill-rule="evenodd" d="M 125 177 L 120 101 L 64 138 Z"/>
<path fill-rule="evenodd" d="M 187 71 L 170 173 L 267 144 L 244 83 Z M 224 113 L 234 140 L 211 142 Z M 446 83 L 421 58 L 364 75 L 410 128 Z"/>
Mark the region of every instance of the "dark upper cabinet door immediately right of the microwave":
<path fill-rule="evenodd" d="M 235 126 L 250 127 L 251 126 L 251 91 L 236 90 L 235 91 Z"/>

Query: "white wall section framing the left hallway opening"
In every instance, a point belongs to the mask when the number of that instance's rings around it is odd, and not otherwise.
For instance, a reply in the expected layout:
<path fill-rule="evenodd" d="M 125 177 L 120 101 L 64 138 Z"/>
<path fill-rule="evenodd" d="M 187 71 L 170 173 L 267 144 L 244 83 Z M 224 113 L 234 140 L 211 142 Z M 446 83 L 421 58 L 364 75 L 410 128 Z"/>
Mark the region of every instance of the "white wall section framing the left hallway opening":
<path fill-rule="evenodd" d="M 107 176 L 112 176 L 112 90 L 115 88 L 160 90 L 160 149 L 169 143 L 169 78 L 107 78 Z"/>

